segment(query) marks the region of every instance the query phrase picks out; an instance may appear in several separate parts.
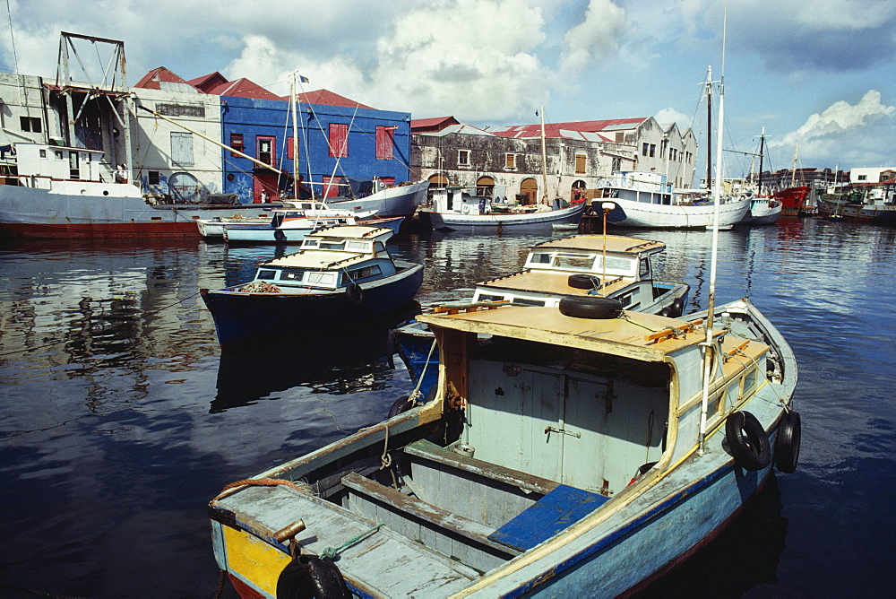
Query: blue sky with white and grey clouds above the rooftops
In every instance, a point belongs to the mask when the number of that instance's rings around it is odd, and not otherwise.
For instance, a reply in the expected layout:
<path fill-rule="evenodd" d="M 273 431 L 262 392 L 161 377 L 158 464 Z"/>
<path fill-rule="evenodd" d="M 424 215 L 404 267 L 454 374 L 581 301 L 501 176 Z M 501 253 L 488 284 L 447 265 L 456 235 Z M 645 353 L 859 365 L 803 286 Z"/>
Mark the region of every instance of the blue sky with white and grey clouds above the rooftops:
<path fill-rule="evenodd" d="M 55 78 L 59 33 L 68 31 L 124 41 L 129 84 L 165 66 L 185 79 L 246 77 L 286 95 L 298 73 L 309 80 L 302 91 L 325 88 L 413 118 L 487 127 L 538 123 L 537 110 L 548 123 L 652 116 L 693 128 L 704 147 L 711 67 L 724 82 L 726 176 L 758 167 L 738 152 L 758 152 L 763 127 L 764 169 L 790 168 L 795 156 L 803 168 L 896 166 L 896 0 L 6 5 L 6 72 Z M 88 71 L 105 65 L 99 47 L 79 55 Z"/>

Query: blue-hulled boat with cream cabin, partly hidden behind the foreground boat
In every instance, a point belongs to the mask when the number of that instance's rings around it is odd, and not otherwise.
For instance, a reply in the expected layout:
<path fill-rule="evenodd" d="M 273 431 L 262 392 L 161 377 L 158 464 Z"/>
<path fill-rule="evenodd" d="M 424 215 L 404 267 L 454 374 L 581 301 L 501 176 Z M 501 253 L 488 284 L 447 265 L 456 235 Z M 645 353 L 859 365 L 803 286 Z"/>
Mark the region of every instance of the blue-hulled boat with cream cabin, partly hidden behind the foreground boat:
<path fill-rule="evenodd" d="M 619 235 L 575 235 L 530 247 L 523 270 L 478 282 L 473 306 L 511 303 L 522 306 L 559 305 L 564 298 L 611 298 L 625 310 L 680 317 L 687 305 L 688 285 L 654 278 L 652 256 L 664 243 Z M 450 309 L 445 304 L 440 309 Z M 414 320 L 395 331 L 395 345 L 417 395 L 435 385 L 439 352 L 431 331 Z"/>

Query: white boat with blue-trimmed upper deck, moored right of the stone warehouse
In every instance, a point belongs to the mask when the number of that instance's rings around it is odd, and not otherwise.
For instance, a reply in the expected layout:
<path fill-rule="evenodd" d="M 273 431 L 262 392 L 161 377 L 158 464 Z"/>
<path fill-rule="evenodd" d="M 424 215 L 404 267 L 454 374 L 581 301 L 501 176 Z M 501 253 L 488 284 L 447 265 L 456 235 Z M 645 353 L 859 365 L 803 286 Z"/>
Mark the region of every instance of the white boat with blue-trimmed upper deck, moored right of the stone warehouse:
<path fill-rule="evenodd" d="M 607 222 L 617 227 L 641 229 L 705 229 L 713 222 L 714 203 L 705 192 L 675 190 L 659 173 L 639 171 L 616 172 L 598 183 L 599 197 L 593 210 L 614 204 L 607 213 Z M 750 200 L 737 195 L 722 198 L 719 225 L 742 221 L 750 208 Z"/>

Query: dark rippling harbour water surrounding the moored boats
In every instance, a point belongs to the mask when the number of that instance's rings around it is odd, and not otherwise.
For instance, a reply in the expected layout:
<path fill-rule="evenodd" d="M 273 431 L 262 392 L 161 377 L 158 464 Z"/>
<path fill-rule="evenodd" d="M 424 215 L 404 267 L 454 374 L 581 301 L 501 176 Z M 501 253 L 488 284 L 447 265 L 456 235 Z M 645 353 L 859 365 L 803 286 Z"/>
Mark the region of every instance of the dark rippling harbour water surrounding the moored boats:
<path fill-rule="evenodd" d="M 659 278 L 691 285 L 686 311 L 706 308 L 711 233 L 628 234 L 667 243 Z M 389 247 L 426 266 L 428 304 L 563 235 L 402 234 Z M 717 301 L 750 298 L 797 354 L 800 464 L 644 596 L 892 596 L 894 238 L 814 218 L 719 232 Z M 291 251 L 0 245 L 0 595 L 211 597 L 209 500 L 409 395 L 387 326 L 221 351 L 199 288 Z"/>

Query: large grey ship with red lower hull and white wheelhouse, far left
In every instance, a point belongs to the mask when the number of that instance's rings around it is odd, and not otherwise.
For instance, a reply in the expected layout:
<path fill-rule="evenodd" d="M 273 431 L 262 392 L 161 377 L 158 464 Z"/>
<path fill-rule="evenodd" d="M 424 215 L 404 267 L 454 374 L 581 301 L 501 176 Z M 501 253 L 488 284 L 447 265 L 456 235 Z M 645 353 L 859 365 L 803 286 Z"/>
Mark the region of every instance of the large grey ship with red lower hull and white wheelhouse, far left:
<path fill-rule="evenodd" d="M 15 143 L 16 173 L 0 178 L 0 233 L 30 239 L 198 237 L 196 221 L 260 218 L 282 204 L 237 204 L 207 198 L 143 195 L 130 182 L 105 180 L 103 152 L 45 143 Z M 127 180 L 129 174 L 119 173 Z M 224 202 L 223 204 L 219 202 Z"/>

